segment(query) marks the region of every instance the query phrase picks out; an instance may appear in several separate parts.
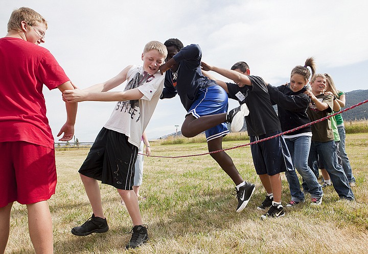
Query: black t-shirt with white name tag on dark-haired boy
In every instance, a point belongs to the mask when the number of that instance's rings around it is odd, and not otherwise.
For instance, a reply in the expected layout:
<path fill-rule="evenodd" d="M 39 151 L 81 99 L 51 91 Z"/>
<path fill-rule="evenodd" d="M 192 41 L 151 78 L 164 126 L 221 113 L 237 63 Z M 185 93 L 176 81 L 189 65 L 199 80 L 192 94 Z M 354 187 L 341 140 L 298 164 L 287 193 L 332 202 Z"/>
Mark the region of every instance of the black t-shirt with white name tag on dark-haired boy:
<path fill-rule="evenodd" d="M 264 80 L 257 76 L 248 77 L 252 86 L 239 87 L 237 84 L 226 83 L 228 97 L 238 100 L 240 104 L 245 103 L 249 109 L 249 115 L 245 117 L 248 135 L 260 136 L 281 131 Z"/>

